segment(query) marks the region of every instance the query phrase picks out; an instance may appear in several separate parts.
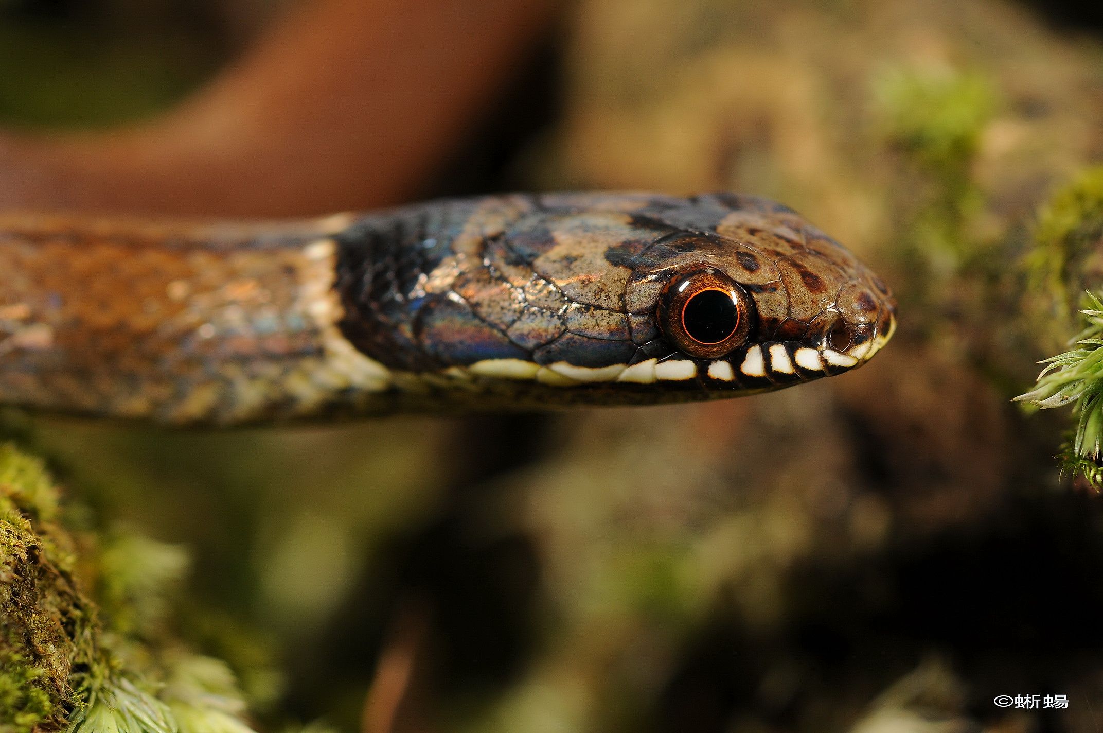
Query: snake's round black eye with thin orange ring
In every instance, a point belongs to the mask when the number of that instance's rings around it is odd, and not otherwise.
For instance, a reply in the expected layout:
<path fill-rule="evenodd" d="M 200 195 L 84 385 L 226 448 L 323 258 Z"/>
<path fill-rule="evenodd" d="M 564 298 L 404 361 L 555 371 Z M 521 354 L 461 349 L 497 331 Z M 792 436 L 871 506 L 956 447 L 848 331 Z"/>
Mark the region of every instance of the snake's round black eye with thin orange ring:
<path fill-rule="evenodd" d="M 750 332 L 753 306 L 735 280 L 708 265 L 695 265 L 663 288 L 663 333 L 690 357 L 722 357 Z"/>

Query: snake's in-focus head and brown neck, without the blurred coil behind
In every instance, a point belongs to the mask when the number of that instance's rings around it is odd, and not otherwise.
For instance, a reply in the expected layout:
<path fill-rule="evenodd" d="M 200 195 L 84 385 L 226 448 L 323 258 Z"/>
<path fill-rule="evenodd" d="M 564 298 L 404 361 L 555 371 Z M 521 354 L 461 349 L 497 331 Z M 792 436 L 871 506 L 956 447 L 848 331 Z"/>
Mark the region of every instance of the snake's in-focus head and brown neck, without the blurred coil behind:
<path fill-rule="evenodd" d="M 168 425 L 742 396 L 848 372 L 885 281 L 728 192 L 293 221 L 0 213 L 0 404 Z"/>

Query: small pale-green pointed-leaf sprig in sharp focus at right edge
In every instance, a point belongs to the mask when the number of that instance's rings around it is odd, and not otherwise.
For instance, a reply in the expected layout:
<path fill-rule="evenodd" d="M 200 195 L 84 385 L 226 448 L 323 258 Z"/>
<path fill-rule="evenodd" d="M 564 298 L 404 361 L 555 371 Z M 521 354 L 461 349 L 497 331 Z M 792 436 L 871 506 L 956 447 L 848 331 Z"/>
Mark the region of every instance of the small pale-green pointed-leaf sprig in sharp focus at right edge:
<path fill-rule="evenodd" d="M 1072 338 L 1075 349 L 1050 357 L 1035 389 L 1015 397 L 1042 410 L 1073 404 L 1078 416 L 1072 439 L 1058 456 L 1061 472 L 1082 476 L 1094 489 L 1103 488 L 1103 301 L 1088 293 L 1080 311 L 1086 326 Z"/>

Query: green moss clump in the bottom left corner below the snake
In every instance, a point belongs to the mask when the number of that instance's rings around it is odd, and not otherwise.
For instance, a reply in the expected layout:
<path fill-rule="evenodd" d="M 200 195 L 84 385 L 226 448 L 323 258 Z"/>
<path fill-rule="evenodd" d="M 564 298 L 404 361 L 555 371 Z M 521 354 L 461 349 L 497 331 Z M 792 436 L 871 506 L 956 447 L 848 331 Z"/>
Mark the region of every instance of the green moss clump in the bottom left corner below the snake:
<path fill-rule="evenodd" d="M 43 463 L 0 445 L 0 733 L 249 733 L 233 673 L 174 633 L 186 553 L 66 516 Z"/>

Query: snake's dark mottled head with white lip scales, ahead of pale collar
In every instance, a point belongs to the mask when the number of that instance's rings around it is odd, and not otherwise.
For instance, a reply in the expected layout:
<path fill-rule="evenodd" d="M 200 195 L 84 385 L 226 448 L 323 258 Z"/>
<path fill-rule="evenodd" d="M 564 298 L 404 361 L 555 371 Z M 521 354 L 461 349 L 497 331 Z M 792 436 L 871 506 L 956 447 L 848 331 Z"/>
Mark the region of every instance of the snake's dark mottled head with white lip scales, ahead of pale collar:
<path fill-rule="evenodd" d="M 854 369 L 895 328 L 892 295 L 872 272 L 762 199 L 561 193 L 450 205 L 413 217 L 459 224 L 397 247 L 389 261 L 413 263 L 407 274 L 356 263 L 370 262 L 364 242 L 417 227 L 352 230 L 342 326 L 388 369 L 473 380 L 480 406 L 773 390 Z"/>

